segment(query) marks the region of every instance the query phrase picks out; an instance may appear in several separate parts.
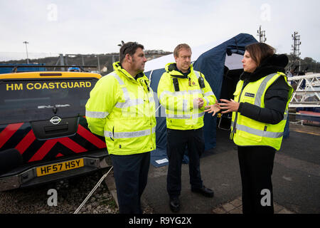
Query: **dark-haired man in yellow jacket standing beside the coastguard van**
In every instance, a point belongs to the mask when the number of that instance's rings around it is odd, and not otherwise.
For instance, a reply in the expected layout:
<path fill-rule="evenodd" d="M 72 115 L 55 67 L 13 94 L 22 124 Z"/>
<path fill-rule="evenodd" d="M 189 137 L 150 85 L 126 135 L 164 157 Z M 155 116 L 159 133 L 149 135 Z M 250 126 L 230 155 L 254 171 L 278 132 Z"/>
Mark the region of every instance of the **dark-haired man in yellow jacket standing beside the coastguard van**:
<path fill-rule="evenodd" d="M 144 46 L 124 43 L 114 71 L 100 78 L 85 105 L 88 127 L 105 136 L 114 168 L 119 212 L 142 213 L 150 151 L 156 149 L 153 91 L 144 75 Z"/>

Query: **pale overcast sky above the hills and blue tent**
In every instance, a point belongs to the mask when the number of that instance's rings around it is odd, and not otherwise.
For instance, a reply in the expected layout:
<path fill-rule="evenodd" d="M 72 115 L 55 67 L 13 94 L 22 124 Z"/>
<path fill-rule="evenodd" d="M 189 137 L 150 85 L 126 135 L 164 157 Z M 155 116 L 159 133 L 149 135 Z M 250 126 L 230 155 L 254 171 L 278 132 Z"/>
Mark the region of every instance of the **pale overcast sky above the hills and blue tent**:
<path fill-rule="evenodd" d="M 173 51 L 178 43 L 202 46 L 238 33 L 257 36 L 277 53 L 292 52 L 299 32 L 301 57 L 320 61 L 320 1 L 47 1 L 0 0 L 0 61 L 58 53 L 118 52 L 120 41 Z"/>

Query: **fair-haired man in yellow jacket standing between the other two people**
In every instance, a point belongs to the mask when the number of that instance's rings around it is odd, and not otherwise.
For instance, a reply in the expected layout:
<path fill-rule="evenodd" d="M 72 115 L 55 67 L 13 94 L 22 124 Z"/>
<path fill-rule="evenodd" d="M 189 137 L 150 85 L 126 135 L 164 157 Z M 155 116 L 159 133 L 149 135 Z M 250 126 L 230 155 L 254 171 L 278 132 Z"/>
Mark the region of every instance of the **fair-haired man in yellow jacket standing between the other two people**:
<path fill-rule="evenodd" d="M 213 190 L 205 187 L 201 180 L 200 156 L 204 150 L 204 110 L 206 106 L 215 104 L 216 98 L 203 74 L 193 70 L 188 44 L 179 44 L 174 50 L 174 58 L 176 63 L 168 63 L 166 72 L 161 76 L 158 96 L 166 109 L 169 205 L 173 212 L 178 212 L 181 162 L 186 147 L 191 190 L 213 197 Z"/>

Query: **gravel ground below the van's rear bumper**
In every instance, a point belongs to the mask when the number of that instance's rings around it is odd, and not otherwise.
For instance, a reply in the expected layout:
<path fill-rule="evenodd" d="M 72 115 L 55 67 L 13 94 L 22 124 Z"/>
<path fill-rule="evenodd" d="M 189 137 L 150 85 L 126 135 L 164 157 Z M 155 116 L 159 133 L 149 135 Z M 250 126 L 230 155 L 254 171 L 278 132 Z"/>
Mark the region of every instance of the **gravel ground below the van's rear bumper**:
<path fill-rule="evenodd" d="M 73 214 L 106 172 L 107 169 L 99 170 L 69 180 L 0 192 L 0 214 Z M 113 172 L 110 172 L 109 175 L 113 176 Z M 48 205 L 48 201 L 49 203 L 54 202 L 52 193 L 48 194 L 51 189 L 57 192 L 56 206 Z M 142 200 L 142 205 L 144 213 L 153 212 L 144 200 Z M 100 187 L 97 187 L 97 190 L 78 212 L 78 214 L 117 213 L 119 209 L 105 181 L 102 181 Z"/>

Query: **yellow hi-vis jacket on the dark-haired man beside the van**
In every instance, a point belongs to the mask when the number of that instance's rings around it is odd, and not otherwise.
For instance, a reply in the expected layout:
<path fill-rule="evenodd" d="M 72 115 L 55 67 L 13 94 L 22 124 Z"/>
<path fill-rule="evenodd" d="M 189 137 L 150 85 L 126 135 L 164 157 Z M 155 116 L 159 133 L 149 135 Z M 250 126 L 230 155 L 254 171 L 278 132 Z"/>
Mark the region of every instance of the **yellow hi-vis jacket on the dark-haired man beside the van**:
<path fill-rule="evenodd" d="M 137 81 L 119 62 L 100 78 L 85 105 L 88 128 L 105 136 L 114 155 L 132 155 L 156 149 L 154 94 L 146 76 Z"/>

